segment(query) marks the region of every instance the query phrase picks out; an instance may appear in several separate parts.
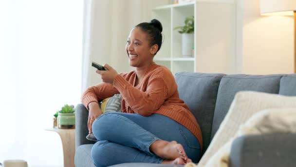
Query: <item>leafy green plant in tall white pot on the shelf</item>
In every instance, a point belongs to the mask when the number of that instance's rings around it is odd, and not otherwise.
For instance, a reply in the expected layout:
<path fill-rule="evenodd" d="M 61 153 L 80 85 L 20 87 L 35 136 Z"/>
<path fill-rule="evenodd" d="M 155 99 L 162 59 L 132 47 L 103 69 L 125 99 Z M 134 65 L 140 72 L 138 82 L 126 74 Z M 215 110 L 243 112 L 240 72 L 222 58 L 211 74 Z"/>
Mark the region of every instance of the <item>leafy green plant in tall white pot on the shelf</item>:
<path fill-rule="evenodd" d="M 185 25 L 175 27 L 174 30 L 180 29 L 178 32 L 182 34 L 182 55 L 191 57 L 194 47 L 194 16 L 185 18 Z"/>

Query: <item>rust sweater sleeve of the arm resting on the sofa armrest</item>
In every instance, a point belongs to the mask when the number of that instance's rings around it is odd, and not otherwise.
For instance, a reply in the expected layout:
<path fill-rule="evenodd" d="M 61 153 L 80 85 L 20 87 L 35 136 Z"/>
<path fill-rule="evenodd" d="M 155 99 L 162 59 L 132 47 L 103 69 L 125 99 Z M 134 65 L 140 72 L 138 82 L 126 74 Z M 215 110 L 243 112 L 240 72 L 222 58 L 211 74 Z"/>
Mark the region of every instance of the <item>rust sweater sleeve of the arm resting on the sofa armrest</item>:
<path fill-rule="evenodd" d="M 100 83 L 87 88 L 81 96 L 81 102 L 87 109 L 89 109 L 88 105 L 91 102 L 98 103 L 117 93 L 119 93 L 118 90 L 112 86 L 112 84 Z"/>

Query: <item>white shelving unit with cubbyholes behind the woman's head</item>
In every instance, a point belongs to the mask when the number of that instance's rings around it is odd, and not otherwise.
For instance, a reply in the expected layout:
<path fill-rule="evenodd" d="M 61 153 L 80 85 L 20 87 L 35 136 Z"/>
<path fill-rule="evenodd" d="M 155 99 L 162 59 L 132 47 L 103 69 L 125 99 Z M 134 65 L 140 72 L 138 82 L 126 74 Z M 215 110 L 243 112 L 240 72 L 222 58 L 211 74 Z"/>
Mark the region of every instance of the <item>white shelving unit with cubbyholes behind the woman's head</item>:
<path fill-rule="evenodd" d="M 182 35 L 173 30 L 183 26 L 186 17 L 194 16 L 194 55 L 182 56 Z M 235 72 L 236 2 L 235 0 L 195 0 L 152 9 L 152 19 L 163 25 L 164 42 L 154 57 L 158 64 L 173 74 L 181 71 L 225 73 Z"/>

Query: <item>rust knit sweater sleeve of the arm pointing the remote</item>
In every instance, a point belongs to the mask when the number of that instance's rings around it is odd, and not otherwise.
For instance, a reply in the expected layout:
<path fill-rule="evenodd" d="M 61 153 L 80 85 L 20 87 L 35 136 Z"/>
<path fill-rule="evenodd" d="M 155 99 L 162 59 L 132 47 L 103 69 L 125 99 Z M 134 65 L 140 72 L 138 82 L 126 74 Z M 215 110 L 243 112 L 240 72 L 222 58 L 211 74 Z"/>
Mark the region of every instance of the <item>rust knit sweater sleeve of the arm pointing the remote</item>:
<path fill-rule="evenodd" d="M 131 109 L 142 116 L 149 116 L 156 112 L 165 102 L 167 87 L 161 76 L 149 79 L 145 92 L 133 87 L 121 75 L 117 75 L 113 86 L 121 93 Z"/>

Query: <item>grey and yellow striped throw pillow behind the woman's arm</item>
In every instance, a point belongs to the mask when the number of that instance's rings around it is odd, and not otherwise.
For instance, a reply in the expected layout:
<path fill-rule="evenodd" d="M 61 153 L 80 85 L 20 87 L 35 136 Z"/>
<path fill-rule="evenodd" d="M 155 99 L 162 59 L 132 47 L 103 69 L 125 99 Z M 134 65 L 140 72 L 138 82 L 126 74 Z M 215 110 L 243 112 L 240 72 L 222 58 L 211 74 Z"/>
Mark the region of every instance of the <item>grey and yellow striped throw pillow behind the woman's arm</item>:
<path fill-rule="evenodd" d="M 108 112 L 121 112 L 121 94 L 115 94 L 110 98 L 104 99 L 100 103 L 100 106 L 103 114 Z M 97 141 L 92 133 L 88 134 L 86 138 L 91 141 Z"/>

